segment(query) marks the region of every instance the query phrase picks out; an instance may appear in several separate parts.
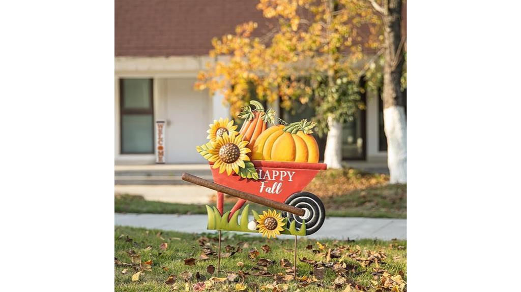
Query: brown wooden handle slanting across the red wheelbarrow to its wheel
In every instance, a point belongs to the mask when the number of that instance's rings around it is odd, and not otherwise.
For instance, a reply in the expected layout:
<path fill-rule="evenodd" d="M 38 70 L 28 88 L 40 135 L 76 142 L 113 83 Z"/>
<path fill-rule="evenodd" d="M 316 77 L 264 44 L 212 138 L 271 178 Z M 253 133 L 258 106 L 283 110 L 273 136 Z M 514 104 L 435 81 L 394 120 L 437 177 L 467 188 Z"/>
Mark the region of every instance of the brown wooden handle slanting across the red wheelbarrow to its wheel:
<path fill-rule="evenodd" d="M 218 191 L 221 193 L 229 194 L 234 197 L 242 198 L 246 201 L 250 201 L 253 203 L 261 204 L 266 207 L 275 208 L 278 210 L 286 211 L 298 216 L 304 216 L 306 212 L 302 208 L 293 207 L 287 204 L 275 202 L 272 200 L 269 200 L 264 197 L 256 196 L 254 194 L 246 193 L 243 191 L 235 190 L 232 188 L 228 188 L 225 185 L 217 184 L 215 182 L 207 181 L 204 178 L 200 178 L 191 174 L 187 174 L 186 172 L 183 172 L 183 175 L 181 176 L 181 179 L 184 181 L 188 181 L 194 184 L 201 185 L 201 187 L 205 187 L 214 191 Z"/>

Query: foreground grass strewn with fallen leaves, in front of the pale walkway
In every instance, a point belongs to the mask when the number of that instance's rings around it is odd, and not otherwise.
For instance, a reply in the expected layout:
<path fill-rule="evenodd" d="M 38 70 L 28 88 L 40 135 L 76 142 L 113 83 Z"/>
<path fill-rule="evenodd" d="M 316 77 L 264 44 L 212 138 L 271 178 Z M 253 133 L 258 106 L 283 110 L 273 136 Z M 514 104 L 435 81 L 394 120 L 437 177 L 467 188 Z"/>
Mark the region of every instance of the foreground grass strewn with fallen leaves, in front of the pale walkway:
<path fill-rule="evenodd" d="M 406 241 L 317 242 L 299 237 L 298 257 L 303 261 L 294 279 L 292 237 L 222 234 L 221 270 L 229 272 L 218 274 L 217 232 L 115 227 L 115 290 L 406 290 Z"/>

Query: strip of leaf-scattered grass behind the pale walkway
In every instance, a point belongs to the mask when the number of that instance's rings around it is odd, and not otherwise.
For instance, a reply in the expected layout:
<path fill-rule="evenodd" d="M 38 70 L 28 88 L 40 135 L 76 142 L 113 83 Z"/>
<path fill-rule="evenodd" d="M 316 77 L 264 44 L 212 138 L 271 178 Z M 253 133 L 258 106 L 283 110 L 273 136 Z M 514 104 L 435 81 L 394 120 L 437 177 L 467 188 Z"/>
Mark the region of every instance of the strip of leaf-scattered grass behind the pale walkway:
<path fill-rule="evenodd" d="M 407 185 L 388 184 L 389 176 L 346 168 L 320 171 L 305 191 L 314 193 L 326 207 L 327 216 L 406 218 Z M 225 210 L 237 198 L 225 196 Z M 215 205 L 215 200 L 210 205 Z M 141 196 L 116 195 L 117 213 L 206 214 L 204 205 L 145 201 Z M 251 203 L 259 212 L 267 208 Z"/>

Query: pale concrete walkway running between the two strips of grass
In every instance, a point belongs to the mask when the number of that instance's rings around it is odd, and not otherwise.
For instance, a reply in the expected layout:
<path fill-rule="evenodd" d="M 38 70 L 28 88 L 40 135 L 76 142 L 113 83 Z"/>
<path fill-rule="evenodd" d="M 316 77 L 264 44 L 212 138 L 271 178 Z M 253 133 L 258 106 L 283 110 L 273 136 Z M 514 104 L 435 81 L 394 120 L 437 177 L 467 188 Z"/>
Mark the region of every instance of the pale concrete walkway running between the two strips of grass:
<path fill-rule="evenodd" d="M 182 231 L 189 233 L 216 232 L 207 230 L 206 215 L 167 215 L 167 214 L 119 214 L 114 215 L 114 224 Z M 247 233 L 259 235 L 258 233 Z M 283 237 L 289 237 L 283 235 Z M 339 240 L 378 238 L 391 240 L 407 238 L 406 219 L 359 218 L 359 217 L 328 217 L 316 233 L 306 238 L 335 238 Z"/>

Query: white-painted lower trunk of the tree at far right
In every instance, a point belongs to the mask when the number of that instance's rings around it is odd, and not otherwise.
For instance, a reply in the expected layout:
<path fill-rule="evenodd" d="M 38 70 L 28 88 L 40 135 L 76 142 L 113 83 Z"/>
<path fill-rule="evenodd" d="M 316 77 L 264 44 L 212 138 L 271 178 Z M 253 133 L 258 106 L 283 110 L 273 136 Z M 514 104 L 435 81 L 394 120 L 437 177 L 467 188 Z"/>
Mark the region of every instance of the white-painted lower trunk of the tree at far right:
<path fill-rule="evenodd" d="M 393 105 L 383 109 L 383 127 L 387 136 L 387 165 L 391 174 L 389 182 L 406 183 L 407 123 L 404 108 Z"/>

